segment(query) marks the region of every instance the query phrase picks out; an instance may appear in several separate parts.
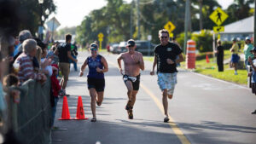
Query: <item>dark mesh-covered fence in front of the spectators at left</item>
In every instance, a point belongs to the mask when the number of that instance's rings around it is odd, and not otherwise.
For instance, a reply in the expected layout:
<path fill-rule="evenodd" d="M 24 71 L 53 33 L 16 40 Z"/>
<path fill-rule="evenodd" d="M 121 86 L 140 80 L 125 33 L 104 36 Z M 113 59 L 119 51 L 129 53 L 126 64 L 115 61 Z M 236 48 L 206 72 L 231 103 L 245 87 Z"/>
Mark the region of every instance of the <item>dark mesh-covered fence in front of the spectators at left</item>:
<path fill-rule="evenodd" d="M 45 84 L 28 80 L 19 88 L 20 103 L 10 97 L 9 128 L 26 144 L 49 143 L 51 105 L 50 79 Z"/>

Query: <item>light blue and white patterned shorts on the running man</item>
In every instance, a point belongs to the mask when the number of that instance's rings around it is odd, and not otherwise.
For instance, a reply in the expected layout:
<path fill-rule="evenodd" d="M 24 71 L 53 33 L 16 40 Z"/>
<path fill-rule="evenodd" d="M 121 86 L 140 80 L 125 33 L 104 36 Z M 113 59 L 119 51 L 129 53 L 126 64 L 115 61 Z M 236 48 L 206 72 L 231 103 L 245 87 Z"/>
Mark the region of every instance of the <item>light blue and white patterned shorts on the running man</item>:
<path fill-rule="evenodd" d="M 175 84 L 177 84 L 177 72 L 157 74 L 157 82 L 162 91 L 168 90 L 168 95 L 173 95 Z"/>

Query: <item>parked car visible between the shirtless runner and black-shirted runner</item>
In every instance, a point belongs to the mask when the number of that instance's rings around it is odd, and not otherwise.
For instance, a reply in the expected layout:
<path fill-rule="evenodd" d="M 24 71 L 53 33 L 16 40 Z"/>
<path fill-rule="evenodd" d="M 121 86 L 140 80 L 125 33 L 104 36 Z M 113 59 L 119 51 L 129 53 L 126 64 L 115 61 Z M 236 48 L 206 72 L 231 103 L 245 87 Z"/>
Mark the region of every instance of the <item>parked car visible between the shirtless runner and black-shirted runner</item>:
<path fill-rule="evenodd" d="M 136 50 L 141 52 L 143 55 L 154 55 L 154 47 L 156 44 L 151 43 L 150 41 L 135 41 L 137 48 Z"/>

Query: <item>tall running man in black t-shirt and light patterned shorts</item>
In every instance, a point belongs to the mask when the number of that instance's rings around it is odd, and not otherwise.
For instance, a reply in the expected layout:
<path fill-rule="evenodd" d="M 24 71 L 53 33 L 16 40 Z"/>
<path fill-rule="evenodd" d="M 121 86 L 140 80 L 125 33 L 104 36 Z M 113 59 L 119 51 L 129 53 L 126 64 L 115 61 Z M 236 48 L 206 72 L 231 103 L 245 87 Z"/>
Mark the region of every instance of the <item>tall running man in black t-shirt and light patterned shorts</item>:
<path fill-rule="evenodd" d="M 150 75 L 154 75 L 154 67 L 157 64 L 158 85 L 162 91 L 162 101 L 166 117 L 164 122 L 169 121 L 168 101 L 172 99 L 175 84 L 177 84 L 176 64 L 183 61 L 182 50 L 175 43 L 169 42 L 169 32 L 165 29 L 159 31 L 160 44 L 154 48 L 154 63 Z"/>

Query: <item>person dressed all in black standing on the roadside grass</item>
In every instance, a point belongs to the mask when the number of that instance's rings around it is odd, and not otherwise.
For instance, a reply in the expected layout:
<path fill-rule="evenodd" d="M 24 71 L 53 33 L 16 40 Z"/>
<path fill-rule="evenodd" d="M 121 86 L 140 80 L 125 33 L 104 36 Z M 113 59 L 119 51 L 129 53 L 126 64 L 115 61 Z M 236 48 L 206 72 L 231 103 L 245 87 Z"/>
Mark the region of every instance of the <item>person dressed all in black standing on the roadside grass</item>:
<path fill-rule="evenodd" d="M 223 65 L 223 60 L 224 60 L 224 47 L 221 45 L 220 39 L 217 41 L 217 50 L 215 53 L 217 54 L 217 65 L 218 65 L 218 72 L 223 72 L 224 71 L 224 65 Z"/>

